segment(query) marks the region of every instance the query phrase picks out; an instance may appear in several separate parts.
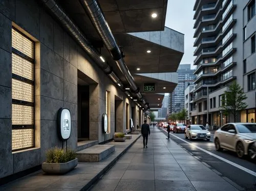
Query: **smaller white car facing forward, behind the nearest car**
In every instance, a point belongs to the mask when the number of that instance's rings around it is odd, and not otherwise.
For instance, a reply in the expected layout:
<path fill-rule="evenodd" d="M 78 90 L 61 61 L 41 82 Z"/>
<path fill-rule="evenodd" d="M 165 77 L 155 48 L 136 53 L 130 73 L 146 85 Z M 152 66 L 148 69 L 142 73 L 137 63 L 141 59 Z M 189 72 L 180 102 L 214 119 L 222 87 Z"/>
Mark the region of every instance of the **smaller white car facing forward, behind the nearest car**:
<path fill-rule="evenodd" d="M 189 125 L 185 130 L 185 138 L 210 140 L 210 132 L 202 125 Z"/>

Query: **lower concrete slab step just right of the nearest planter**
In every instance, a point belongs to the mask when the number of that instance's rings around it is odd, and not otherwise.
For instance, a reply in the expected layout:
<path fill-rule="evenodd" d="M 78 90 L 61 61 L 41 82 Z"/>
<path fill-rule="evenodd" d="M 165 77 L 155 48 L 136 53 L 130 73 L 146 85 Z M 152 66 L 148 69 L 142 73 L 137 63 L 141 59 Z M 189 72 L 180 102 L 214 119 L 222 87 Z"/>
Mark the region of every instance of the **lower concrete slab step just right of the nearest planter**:
<path fill-rule="evenodd" d="M 78 161 L 99 162 L 115 152 L 114 145 L 95 145 L 76 152 Z"/>

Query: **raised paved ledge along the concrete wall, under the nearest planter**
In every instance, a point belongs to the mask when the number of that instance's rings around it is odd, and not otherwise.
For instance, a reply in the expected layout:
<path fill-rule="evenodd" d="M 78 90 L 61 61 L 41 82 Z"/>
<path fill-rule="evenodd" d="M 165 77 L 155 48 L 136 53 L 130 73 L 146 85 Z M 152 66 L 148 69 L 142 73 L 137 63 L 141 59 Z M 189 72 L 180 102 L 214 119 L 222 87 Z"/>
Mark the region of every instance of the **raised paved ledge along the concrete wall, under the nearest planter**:
<path fill-rule="evenodd" d="M 115 152 L 100 162 L 78 162 L 76 168 L 65 175 L 47 175 L 37 171 L 23 178 L 0 186 L 0 190 L 87 190 L 100 176 L 110 169 L 141 135 L 132 135 L 125 142 L 108 142 L 115 145 Z"/>

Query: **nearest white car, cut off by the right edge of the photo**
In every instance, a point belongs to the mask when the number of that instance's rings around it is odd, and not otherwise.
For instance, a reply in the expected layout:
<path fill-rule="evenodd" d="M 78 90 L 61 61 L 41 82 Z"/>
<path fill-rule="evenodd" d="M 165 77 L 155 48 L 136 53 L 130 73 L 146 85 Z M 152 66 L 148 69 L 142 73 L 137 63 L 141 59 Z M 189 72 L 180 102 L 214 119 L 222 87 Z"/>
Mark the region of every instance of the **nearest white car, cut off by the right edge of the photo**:
<path fill-rule="evenodd" d="M 250 155 L 256 141 L 256 123 L 229 123 L 214 134 L 215 149 L 236 152 L 239 158 Z"/>

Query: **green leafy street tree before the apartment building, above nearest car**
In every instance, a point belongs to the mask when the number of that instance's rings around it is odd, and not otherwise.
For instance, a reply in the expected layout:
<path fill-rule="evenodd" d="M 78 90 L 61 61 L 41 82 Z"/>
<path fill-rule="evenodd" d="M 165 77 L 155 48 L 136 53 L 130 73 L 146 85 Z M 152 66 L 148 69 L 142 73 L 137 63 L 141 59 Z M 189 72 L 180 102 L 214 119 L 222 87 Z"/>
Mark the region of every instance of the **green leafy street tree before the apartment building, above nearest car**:
<path fill-rule="evenodd" d="M 247 99 L 243 89 L 234 81 L 229 90 L 225 91 L 225 97 L 222 97 L 222 109 L 225 114 L 231 113 L 234 116 L 234 122 L 238 111 L 244 110 L 248 105 L 244 102 Z"/>

